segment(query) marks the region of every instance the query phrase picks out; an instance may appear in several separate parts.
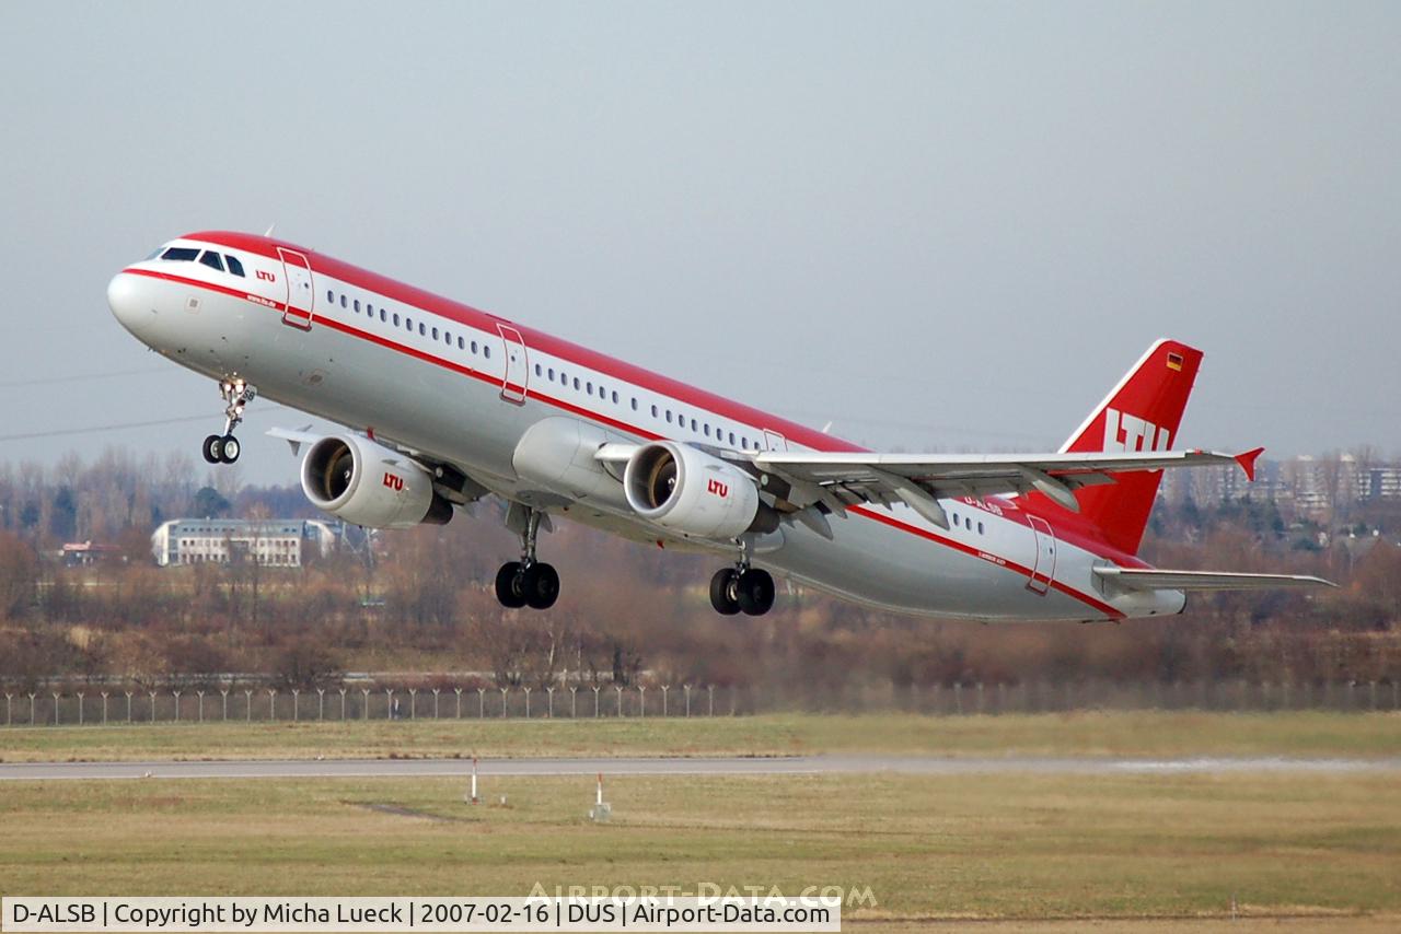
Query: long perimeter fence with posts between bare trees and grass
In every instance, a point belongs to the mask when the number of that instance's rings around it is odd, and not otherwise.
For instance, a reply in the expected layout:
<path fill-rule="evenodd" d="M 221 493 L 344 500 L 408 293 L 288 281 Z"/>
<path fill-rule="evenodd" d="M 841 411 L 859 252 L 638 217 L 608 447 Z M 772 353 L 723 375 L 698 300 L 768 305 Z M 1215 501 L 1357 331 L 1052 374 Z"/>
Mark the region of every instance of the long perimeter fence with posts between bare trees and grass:
<path fill-rule="evenodd" d="M 605 720 L 733 717 L 764 713 L 883 713 L 1009 716 L 1090 710 L 1238 713 L 1401 711 L 1401 682 L 1250 681 L 1019 682 L 876 685 L 801 692 L 772 685 L 331 686 L 277 689 L 219 685 L 198 689 L 7 689 L 6 727 L 154 723 L 325 723 L 415 720 Z"/>

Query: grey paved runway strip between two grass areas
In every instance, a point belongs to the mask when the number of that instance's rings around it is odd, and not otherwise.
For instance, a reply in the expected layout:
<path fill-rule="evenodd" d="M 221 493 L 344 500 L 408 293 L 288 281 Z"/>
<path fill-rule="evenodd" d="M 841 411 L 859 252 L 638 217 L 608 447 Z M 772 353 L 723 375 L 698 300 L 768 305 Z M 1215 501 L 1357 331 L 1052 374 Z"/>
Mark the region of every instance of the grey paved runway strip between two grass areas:
<path fill-rule="evenodd" d="M 483 759 L 482 776 L 778 776 L 899 773 L 961 774 L 1217 774 L 1401 772 L 1401 758 L 965 758 L 965 756 L 773 756 Z M 265 759 L 226 762 L 10 762 L 0 781 L 109 779 L 433 779 L 472 773 L 471 759 Z"/>

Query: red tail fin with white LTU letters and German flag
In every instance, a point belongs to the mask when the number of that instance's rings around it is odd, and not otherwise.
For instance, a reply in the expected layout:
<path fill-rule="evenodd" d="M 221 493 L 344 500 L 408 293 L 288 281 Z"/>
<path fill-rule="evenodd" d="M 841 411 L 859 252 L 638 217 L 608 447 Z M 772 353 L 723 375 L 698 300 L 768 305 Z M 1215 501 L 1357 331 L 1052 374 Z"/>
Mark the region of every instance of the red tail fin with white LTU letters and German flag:
<path fill-rule="evenodd" d="M 1201 364 L 1201 350 L 1159 340 L 1061 449 L 1167 451 L 1177 440 Z M 1161 471 L 1119 473 L 1114 483 L 1084 487 L 1076 493 L 1080 514 L 1103 531 L 1110 545 L 1133 555 L 1143 541 L 1161 476 Z"/>

